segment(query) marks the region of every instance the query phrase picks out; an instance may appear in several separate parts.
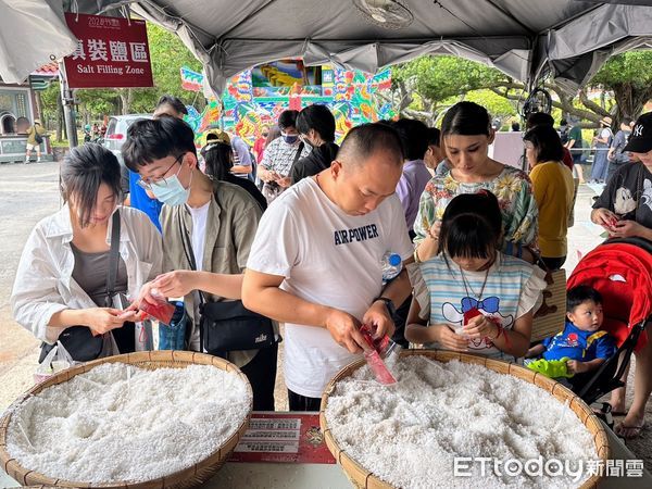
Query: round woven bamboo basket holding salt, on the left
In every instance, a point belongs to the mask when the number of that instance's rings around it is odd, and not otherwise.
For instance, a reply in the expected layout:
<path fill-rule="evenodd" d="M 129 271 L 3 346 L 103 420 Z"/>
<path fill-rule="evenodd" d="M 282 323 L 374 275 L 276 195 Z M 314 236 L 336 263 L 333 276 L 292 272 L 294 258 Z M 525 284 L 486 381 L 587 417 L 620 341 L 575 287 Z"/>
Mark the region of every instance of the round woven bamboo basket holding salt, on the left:
<path fill-rule="evenodd" d="M 146 351 L 139 353 L 128 353 L 124 355 L 109 356 L 106 359 L 96 360 L 93 362 L 86 363 L 73 368 L 63 371 L 50 379 L 33 387 L 25 396 L 16 400 L 7 411 L 7 414 L 0 419 L 0 464 L 2 468 L 17 480 L 23 486 L 57 486 L 65 488 L 88 488 L 88 487 L 102 487 L 102 488 L 121 488 L 121 489 L 155 489 L 155 488 L 189 488 L 198 486 L 215 475 L 215 473 L 224 465 L 224 462 L 238 444 L 238 440 L 242 437 L 247 427 L 249 426 L 249 418 L 251 417 L 252 404 L 249 404 L 249 411 L 246 418 L 242 421 L 237 431 L 225 442 L 220 449 L 213 452 L 209 457 L 203 461 L 188 467 L 184 471 L 170 474 L 165 477 L 147 480 L 142 482 L 111 482 L 111 484 L 87 484 L 71 480 L 53 479 L 47 475 L 39 474 L 34 471 L 29 471 L 27 467 L 21 466 L 15 460 L 13 460 L 7 451 L 7 430 L 9 422 L 11 419 L 12 411 L 28 397 L 40 392 L 41 390 L 62 384 L 75 375 L 83 374 L 90 371 L 92 367 L 102 363 L 127 363 L 141 368 L 156 369 L 156 368 L 184 368 L 188 365 L 213 365 L 222 371 L 230 372 L 234 375 L 239 376 L 242 381 L 246 383 L 249 392 L 251 393 L 251 386 L 249 380 L 240 372 L 240 369 L 233 363 L 226 360 L 211 356 L 202 353 L 187 352 L 187 351 Z"/>

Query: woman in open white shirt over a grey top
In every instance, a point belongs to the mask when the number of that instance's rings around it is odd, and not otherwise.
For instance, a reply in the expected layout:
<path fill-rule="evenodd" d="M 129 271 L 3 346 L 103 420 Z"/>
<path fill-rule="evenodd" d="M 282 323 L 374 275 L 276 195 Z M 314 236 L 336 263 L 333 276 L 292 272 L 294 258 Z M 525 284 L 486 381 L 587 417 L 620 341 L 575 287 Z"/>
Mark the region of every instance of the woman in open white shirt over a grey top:
<path fill-rule="evenodd" d="M 95 275 L 98 286 L 105 279 L 108 261 L 102 258 L 109 255 L 112 216 L 117 209 L 118 287 L 122 281 L 123 291 L 136 298 L 140 287 L 161 273 L 161 237 L 146 214 L 118 205 L 120 184 L 120 163 L 111 151 L 95 143 L 73 149 L 61 166 L 65 205 L 39 222 L 27 239 L 11 305 L 15 321 L 46 343 L 57 342 L 72 326 L 89 328 L 92 336 L 82 328 L 74 330 L 93 338 L 139 319 L 136 313 L 100 306 L 98 288 L 85 290 L 75 279 L 77 274 L 77 278 L 84 277 L 80 281 L 90 283 Z M 103 272 L 75 268 L 75 256 L 80 255 L 104 263 Z M 102 350 L 102 355 L 111 353 L 115 352 Z"/>

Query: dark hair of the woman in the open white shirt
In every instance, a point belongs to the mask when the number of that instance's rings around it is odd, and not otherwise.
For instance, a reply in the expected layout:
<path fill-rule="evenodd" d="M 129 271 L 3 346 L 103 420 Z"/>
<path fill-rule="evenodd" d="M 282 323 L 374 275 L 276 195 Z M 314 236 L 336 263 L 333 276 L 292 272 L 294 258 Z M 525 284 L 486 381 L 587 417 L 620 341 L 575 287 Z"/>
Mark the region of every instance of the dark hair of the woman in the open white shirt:
<path fill-rule="evenodd" d="M 121 168 L 117 158 L 95 142 L 73 148 L 61 165 L 61 196 L 70 202 L 74 196 L 79 225 L 88 226 L 96 206 L 98 191 L 106 184 L 120 200 Z"/>

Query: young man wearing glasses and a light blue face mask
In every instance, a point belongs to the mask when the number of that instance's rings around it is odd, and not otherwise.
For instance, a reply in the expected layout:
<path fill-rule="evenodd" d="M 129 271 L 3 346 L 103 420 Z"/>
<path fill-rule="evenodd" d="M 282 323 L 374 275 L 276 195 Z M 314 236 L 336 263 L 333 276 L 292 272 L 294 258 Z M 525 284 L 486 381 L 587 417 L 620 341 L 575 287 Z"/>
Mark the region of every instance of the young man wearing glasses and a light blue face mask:
<path fill-rule="evenodd" d="M 184 297 L 192 323 L 188 347 L 204 351 L 198 291 L 210 301 L 240 299 L 261 208 L 246 190 L 212 180 L 199 170 L 192 129 L 178 118 L 134 123 L 122 151 L 129 170 L 140 174 L 139 185 L 164 204 L 163 269 L 168 272 L 146 284 L 131 309 L 141 301 L 155 303 L 152 293 Z M 226 359 L 248 376 L 255 410 L 274 410 L 277 351 L 275 346 L 227 353 Z"/>

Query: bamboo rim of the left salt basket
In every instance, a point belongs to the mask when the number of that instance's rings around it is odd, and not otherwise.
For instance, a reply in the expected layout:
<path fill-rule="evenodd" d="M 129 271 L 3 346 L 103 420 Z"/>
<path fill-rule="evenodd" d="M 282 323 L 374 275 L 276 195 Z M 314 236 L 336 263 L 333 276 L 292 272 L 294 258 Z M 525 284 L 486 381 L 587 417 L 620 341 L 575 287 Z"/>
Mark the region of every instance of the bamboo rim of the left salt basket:
<path fill-rule="evenodd" d="M 9 427 L 9 423 L 11 422 L 11 416 L 14 411 L 25 401 L 27 401 L 30 397 L 41 392 L 42 390 L 52 387 L 54 385 L 63 384 L 72 379 L 73 377 L 89 372 L 98 365 L 104 363 L 125 363 L 128 365 L 136 365 L 139 363 L 152 363 L 155 365 L 155 368 L 185 368 L 189 365 L 212 365 L 216 368 L 225 371 L 227 373 L 237 375 L 244 385 L 247 386 L 247 391 L 249 392 L 249 409 L 247 415 L 239 424 L 238 428 L 233 432 L 233 435 L 222 444 L 213 453 L 209 454 L 205 459 L 199 461 L 198 463 L 177 471 L 175 473 L 167 474 L 163 477 L 158 477 L 155 479 L 140 480 L 140 481 L 113 481 L 113 482 L 102 482 L 102 484 L 91 484 L 91 482 L 83 482 L 75 480 L 66 480 L 66 479 L 58 479 L 49 477 L 45 474 L 40 474 L 36 471 L 29 471 L 23 467 L 15 459 L 11 456 L 8 451 L 7 446 L 7 430 Z M 156 363 L 161 363 L 161 365 L 156 365 Z M 170 365 L 165 365 L 165 364 Z M 155 369 L 154 368 L 154 369 Z M 209 355 L 206 353 L 193 352 L 193 351 L 180 351 L 180 350 L 156 350 L 156 351 L 142 351 L 135 353 L 124 353 L 120 355 L 106 356 L 103 359 L 93 360 L 91 362 L 86 362 L 82 365 L 76 365 L 71 368 L 66 368 L 65 371 L 59 372 L 48 380 L 39 383 L 33 386 L 29 390 L 21 394 L 14 402 L 10 404 L 9 408 L 4 411 L 2 416 L 0 416 L 0 466 L 4 469 L 4 472 L 12 478 L 14 478 L 18 484 L 23 486 L 57 486 L 57 487 L 66 487 L 66 488 L 83 488 L 83 487 L 98 487 L 98 488 L 129 488 L 129 489 L 149 489 L 159 485 L 160 487 L 170 487 L 170 479 L 176 479 L 180 476 L 184 478 L 196 477 L 200 471 L 208 469 L 214 465 L 222 464 L 228 456 L 230 450 L 224 450 L 225 448 L 237 444 L 237 441 L 242 437 L 244 431 L 249 426 L 249 421 L 251 418 L 251 413 L 253 410 L 253 392 L 251 389 L 251 384 L 247 376 L 242 373 L 240 368 L 238 368 L 231 362 L 218 358 Z M 217 457 L 217 461 L 214 459 Z M 27 482 L 29 479 L 29 484 Z"/>

